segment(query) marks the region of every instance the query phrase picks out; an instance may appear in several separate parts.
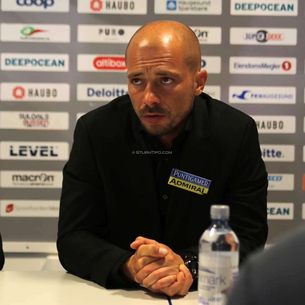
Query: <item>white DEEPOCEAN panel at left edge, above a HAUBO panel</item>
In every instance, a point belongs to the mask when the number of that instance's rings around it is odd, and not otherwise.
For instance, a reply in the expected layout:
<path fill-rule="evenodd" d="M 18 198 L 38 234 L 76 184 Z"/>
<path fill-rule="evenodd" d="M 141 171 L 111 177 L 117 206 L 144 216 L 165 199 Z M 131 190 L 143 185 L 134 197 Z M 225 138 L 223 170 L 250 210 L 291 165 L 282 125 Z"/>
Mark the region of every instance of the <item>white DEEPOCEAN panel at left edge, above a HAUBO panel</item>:
<path fill-rule="evenodd" d="M 2 71 L 68 72 L 68 54 L 1 53 Z"/>

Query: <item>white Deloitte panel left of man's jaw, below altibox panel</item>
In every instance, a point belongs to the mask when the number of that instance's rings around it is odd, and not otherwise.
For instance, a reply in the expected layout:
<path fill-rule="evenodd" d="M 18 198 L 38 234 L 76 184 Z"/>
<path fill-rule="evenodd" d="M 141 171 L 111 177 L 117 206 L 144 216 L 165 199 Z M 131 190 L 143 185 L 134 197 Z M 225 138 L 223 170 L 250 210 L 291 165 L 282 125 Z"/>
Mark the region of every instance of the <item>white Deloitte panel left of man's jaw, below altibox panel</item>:
<path fill-rule="evenodd" d="M 128 86 L 120 84 L 77 84 L 78 101 L 110 102 L 128 94 Z"/>

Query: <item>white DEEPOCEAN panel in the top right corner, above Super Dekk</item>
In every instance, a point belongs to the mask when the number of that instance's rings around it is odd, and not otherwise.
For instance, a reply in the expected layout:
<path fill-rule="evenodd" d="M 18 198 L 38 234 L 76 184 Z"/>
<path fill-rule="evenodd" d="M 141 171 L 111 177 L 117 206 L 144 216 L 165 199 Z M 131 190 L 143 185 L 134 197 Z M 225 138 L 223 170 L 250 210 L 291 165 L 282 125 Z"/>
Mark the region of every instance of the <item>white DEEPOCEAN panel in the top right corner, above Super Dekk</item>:
<path fill-rule="evenodd" d="M 297 16 L 297 0 L 236 1 L 231 0 L 231 15 Z"/>

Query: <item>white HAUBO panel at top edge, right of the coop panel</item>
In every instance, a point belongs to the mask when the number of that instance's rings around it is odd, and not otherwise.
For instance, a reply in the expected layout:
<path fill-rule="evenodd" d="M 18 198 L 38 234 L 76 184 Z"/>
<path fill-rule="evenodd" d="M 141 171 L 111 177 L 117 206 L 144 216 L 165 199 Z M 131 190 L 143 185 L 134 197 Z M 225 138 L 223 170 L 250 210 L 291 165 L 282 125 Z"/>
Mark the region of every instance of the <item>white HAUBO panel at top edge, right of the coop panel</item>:
<path fill-rule="evenodd" d="M 87 14 L 146 15 L 147 0 L 78 0 L 77 12 Z"/>

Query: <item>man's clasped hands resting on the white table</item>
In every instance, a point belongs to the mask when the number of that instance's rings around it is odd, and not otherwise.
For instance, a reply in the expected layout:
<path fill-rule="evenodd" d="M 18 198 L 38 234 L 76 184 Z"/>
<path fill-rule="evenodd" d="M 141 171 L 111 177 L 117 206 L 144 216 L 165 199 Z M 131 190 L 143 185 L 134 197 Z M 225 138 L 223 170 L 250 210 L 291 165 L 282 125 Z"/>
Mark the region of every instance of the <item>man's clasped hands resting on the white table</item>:
<path fill-rule="evenodd" d="M 178 254 L 169 247 L 144 237 L 138 237 L 130 247 L 136 252 L 121 265 L 128 278 L 152 292 L 169 296 L 187 293 L 193 279 Z"/>

